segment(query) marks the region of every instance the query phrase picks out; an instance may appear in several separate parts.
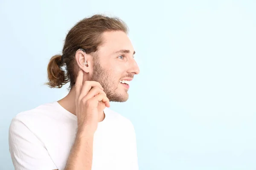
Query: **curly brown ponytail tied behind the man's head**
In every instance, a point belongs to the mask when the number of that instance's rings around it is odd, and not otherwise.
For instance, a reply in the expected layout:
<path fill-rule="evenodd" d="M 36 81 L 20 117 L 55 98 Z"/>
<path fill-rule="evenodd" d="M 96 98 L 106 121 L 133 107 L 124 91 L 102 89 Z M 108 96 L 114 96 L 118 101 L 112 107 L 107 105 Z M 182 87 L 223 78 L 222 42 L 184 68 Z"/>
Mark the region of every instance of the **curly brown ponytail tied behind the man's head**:
<path fill-rule="evenodd" d="M 47 67 L 49 82 L 46 83 L 50 88 L 61 88 L 69 82 L 67 74 L 61 68 L 62 66 L 64 66 L 64 62 L 61 60 L 61 55 L 55 55 L 50 59 Z"/>

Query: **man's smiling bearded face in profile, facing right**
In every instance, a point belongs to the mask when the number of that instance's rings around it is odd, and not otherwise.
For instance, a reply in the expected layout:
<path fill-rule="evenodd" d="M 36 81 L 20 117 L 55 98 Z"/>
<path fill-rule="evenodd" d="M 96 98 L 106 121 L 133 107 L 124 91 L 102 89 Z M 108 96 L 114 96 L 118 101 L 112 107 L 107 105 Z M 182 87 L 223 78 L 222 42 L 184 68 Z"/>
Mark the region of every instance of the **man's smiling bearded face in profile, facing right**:
<path fill-rule="evenodd" d="M 134 48 L 123 31 L 103 33 L 103 44 L 93 63 L 92 80 L 99 82 L 112 102 L 128 99 L 129 81 L 140 69 L 134 60 Z M 122 81 L 122 82 L 120 82 Z"/>

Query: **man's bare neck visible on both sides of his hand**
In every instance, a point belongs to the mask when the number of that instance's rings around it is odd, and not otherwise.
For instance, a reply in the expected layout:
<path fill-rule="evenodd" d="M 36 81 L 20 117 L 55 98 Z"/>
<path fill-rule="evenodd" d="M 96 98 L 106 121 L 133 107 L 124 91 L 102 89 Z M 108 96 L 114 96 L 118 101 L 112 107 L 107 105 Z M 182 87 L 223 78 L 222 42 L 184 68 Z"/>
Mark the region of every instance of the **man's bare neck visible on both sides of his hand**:
<path fill-rule="evenodd" d="M 67 94 L 67 96 L 65 96 L 63 99 L 58 100 L 58 103 L 67 111 L 69 111 L 70 113 L 76 115 L 76 94 L 75 94 L 75 89 L 71 88 L 70 92 Z M 104 103 L 99 103 L 98 105 L 98 115 L 102 115 L 101 118 L 99 118 L 99 122 L 102 122 L 105 119 L 105 113 L 104 110 L 105 109 L 105 104 Z"/>

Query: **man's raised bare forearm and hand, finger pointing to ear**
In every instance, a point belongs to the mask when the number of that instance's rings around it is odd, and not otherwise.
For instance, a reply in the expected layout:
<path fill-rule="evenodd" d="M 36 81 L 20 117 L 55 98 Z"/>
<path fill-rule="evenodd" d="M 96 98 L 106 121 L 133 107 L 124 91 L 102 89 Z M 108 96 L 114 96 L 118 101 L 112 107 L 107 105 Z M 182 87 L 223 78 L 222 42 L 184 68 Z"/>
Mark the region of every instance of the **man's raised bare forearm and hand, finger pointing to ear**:
<path fill-rule="evenodd" d="M 78 132 L 65 170 L 91 170 L 93 135 L 103 109 L 110 106 L 109 99 L 99 82 L 83 81 L 82 70 L 79 70 L 75 91 Z M 99 105 L 102 111 L 99 111 Z"/>

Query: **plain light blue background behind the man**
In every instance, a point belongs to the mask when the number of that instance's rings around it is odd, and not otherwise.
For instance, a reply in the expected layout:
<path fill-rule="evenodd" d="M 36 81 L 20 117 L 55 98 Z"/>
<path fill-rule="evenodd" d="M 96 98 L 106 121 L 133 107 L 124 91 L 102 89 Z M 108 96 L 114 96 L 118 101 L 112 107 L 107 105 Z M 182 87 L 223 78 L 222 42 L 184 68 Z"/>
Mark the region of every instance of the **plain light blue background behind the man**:
<path fill-rule="evenodd" d="M 67 94 L 43 85 L 48 61 L 96 13 L 130 28 L 141 73 L 111 105 L 134 124 L 140 170 L 256 169 L 256 1 L 1 0 L 1 170 L 12 117 Z"/>

